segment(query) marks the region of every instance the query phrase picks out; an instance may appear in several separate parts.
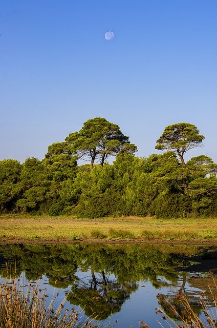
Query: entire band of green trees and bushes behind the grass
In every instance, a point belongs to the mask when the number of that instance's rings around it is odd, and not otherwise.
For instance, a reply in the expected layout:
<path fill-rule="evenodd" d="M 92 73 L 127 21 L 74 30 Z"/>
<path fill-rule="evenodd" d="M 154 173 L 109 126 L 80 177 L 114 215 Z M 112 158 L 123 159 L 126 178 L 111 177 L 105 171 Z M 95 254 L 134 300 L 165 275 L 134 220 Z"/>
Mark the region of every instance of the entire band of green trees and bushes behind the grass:
<path fill-rule="evenodd" d="M 206 155 L 185 161 L 205 137 L 189 123 L 165 128 L 160 154 L 135 156 L 118 125 L 96 117 L 48 147 L 45 158 L 0 161 L 0 212 L 77 217 L 217 215 L 217 165 Z M 112 164 L 107 159 L 116 156 Z M 78 159 L 89 163 L 78 165 Z"/>

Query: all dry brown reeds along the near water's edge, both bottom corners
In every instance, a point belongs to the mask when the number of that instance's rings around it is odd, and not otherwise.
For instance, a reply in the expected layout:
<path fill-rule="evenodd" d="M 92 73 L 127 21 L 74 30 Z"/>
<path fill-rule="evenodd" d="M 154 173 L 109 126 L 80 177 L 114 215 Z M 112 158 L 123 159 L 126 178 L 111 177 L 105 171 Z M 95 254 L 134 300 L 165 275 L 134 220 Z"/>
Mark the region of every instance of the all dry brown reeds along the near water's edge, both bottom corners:
<path fill-rule="evenodd" d="M 213 278 L 215 292 L 210 289 L 213 298 L 213 306 L 210 308 L 206 298 L 201 298 L 200 303 L 205 321 L 202 321 L 193 310 L 184 293 L 177 295 L 176 305 L 167 302 L 169 313 L 173 314 L 179 323 L 161 309 L 156 309 L 170 328 L 215 328 L 217 327 L 217 285 Z M 74 309 L 63 310 L 64 299 L 58 308 L 54 309 L 54 300 L 47 304 L 48 295 L 36 285 L 29 284 L 27 291 L 21 286 L 19 279 L 6 278 L 4 283 L 0 281 L 0 328 L 99 328 L 99 323 L 93 319 L 82 322 L 79 313 Z M 177 308 L 179 305 L 179 309 Z M 181 311 L 180 311 L 181 306 Z M 129 325 L 130 326 L 130 325 Z M 149 328 L 139 320 L 140 328 Z M 164 325 L 159 322 L 159 326 Z M 110 323 L 103 327 L 111 327 Z"/>

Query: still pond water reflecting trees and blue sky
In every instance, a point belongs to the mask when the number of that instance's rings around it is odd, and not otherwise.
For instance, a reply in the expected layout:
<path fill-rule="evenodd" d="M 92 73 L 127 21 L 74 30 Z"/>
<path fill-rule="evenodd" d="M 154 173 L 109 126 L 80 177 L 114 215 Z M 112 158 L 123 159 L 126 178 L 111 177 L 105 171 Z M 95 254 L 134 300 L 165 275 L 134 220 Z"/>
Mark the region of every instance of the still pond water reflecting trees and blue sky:
<path fill-rule="evenodd" d="M 187 245 L 103 244 L 7 244 L 0 245 L 1 279 L 10 275 L 21 284 L 39 284 L 58 306 L 68 295 L 66 308 L 82 311 L 81 319 L 93 313 L 100 326 L 164 326 L 156 308 L 177 320 L 166 305 L 176 302 L 180 292 L 190 300 L 194 312 L 203 317 L 200 295 L 212 307 L 211 290 L 217 276 L 217 247 Z M 159 322 L 158 322 L 159 321 Z"/>

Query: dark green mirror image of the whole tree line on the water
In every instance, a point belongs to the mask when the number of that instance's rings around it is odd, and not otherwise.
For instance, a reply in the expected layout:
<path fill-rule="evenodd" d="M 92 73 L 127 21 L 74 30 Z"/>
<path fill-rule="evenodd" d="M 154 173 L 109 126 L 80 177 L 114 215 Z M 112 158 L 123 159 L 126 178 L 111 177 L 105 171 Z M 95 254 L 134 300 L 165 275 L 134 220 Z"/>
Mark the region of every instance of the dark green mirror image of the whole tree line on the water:
<path fill-rule="evenodd" d="M 187 271 L 200 268 L 207 276 L 210 270 L 215 273 L 210 263 L 215 265 L 216 254 L 215 249 L 186 245 L 8 244 L 0 245 L 0 265 L 2 277 L 19 277 L 25 272 L 28 280 L 37 280 L 45 275 L 51 286 L 69 289 L 71 304 L 80 305 L 86 316 L 95 313 L 100 319 L 120 312 L 138 288 L 150 284 L 156 302 L 176 318 L 166 301 L 182 311 L 181 292 L 190 295 L 190 302 L 200 313 L 201 305 L 193 290 L 206 288 L 205 284 L 196 287 L 204 276 Z M 195 267 L 206 260 L 207 267 Z M 9 272 L 6 262 L 10 263 Z"/>

